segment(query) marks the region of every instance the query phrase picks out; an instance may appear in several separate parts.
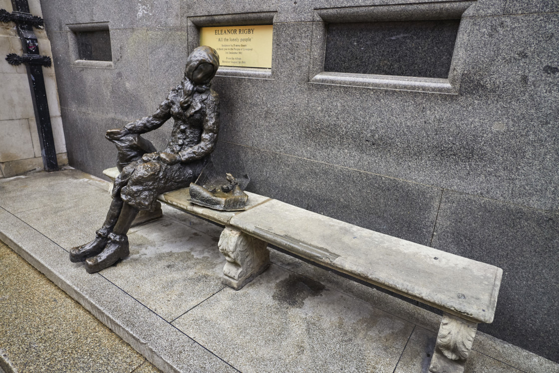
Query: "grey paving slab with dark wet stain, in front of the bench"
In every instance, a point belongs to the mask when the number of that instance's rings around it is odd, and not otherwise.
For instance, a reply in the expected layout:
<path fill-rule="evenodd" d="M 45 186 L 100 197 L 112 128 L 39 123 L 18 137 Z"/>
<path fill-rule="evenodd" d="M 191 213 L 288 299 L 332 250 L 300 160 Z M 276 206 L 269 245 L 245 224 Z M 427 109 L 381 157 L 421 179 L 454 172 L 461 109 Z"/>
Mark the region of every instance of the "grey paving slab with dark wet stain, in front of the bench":
<path fill-rule="evenodd" d="M 272 265 L 173 322 L 243 372 L 387 372 L 413 325 Z"/>

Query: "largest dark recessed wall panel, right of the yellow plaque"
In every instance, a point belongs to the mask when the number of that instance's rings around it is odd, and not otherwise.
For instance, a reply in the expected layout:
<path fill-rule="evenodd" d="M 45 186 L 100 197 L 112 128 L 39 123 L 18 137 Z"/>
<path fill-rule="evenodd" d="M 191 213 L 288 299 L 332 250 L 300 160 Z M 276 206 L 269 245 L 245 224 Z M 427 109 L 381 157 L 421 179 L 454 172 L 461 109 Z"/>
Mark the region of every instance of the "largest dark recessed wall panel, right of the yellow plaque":
<path fill-rule="evenodd" d="M 459 23 L 329 23 L 324 71 L 448 78 Z"/>

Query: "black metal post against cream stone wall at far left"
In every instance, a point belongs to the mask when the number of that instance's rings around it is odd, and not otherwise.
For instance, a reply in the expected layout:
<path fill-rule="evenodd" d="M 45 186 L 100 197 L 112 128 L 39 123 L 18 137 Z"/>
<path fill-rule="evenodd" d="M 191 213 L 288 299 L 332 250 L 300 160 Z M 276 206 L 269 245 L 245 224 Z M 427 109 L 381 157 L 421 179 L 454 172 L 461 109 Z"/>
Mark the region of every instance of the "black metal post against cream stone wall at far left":
<path fill-rule="evenodd" d="M 16 12 L 29 13 L 27 0 L 12 0 L 13 10 Z M 39 55 L 39 45 L 33 27 L 27 22 L 17 22 L 17 33 L 23 46 L 23 55 Z M 35 110 L 35 121 L 39 132 L 41 144 L 42 164 L 45 171 L 57 171 L 56 149 L 54 148 L 53 128 L 50 123 L 49 103 L 46 99 L 45 79 L 42 74 L 42 66 L 39 64 L 26 64 L 31 98 Z"/>

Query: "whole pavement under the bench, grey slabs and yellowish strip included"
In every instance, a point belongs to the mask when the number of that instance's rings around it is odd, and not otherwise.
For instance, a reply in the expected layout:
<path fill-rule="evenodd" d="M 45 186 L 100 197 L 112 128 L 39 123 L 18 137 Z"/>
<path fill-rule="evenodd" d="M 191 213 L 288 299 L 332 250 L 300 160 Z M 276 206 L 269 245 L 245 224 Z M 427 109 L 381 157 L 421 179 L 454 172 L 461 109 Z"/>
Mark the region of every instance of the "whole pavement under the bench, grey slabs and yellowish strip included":
<path fill-rule="evenodd" d="M 0 179 L 0 239 L 21 256 L 0 246 L 7 373 L 427 372 L 439 315 L 273 249 L 230 289 L 222 228 L 172 207 L 130 230 L 129 257 L 86 273 L 68 249 L 101 226 L 108 187 L 72 168 Z M 478 332 L 466 372 L 559 365 Z"/>

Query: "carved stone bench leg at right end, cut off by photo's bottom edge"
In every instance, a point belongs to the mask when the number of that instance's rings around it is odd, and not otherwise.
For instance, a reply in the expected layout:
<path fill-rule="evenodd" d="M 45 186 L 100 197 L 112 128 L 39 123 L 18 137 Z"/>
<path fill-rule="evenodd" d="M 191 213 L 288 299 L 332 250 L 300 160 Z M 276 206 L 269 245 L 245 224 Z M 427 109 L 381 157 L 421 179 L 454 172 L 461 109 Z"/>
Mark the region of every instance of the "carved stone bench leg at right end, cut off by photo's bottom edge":
<path fill-rule="evenodd" d="M 463 373 L 476 332 L 476 323 L 443 313 L 429 371 Z"/>

